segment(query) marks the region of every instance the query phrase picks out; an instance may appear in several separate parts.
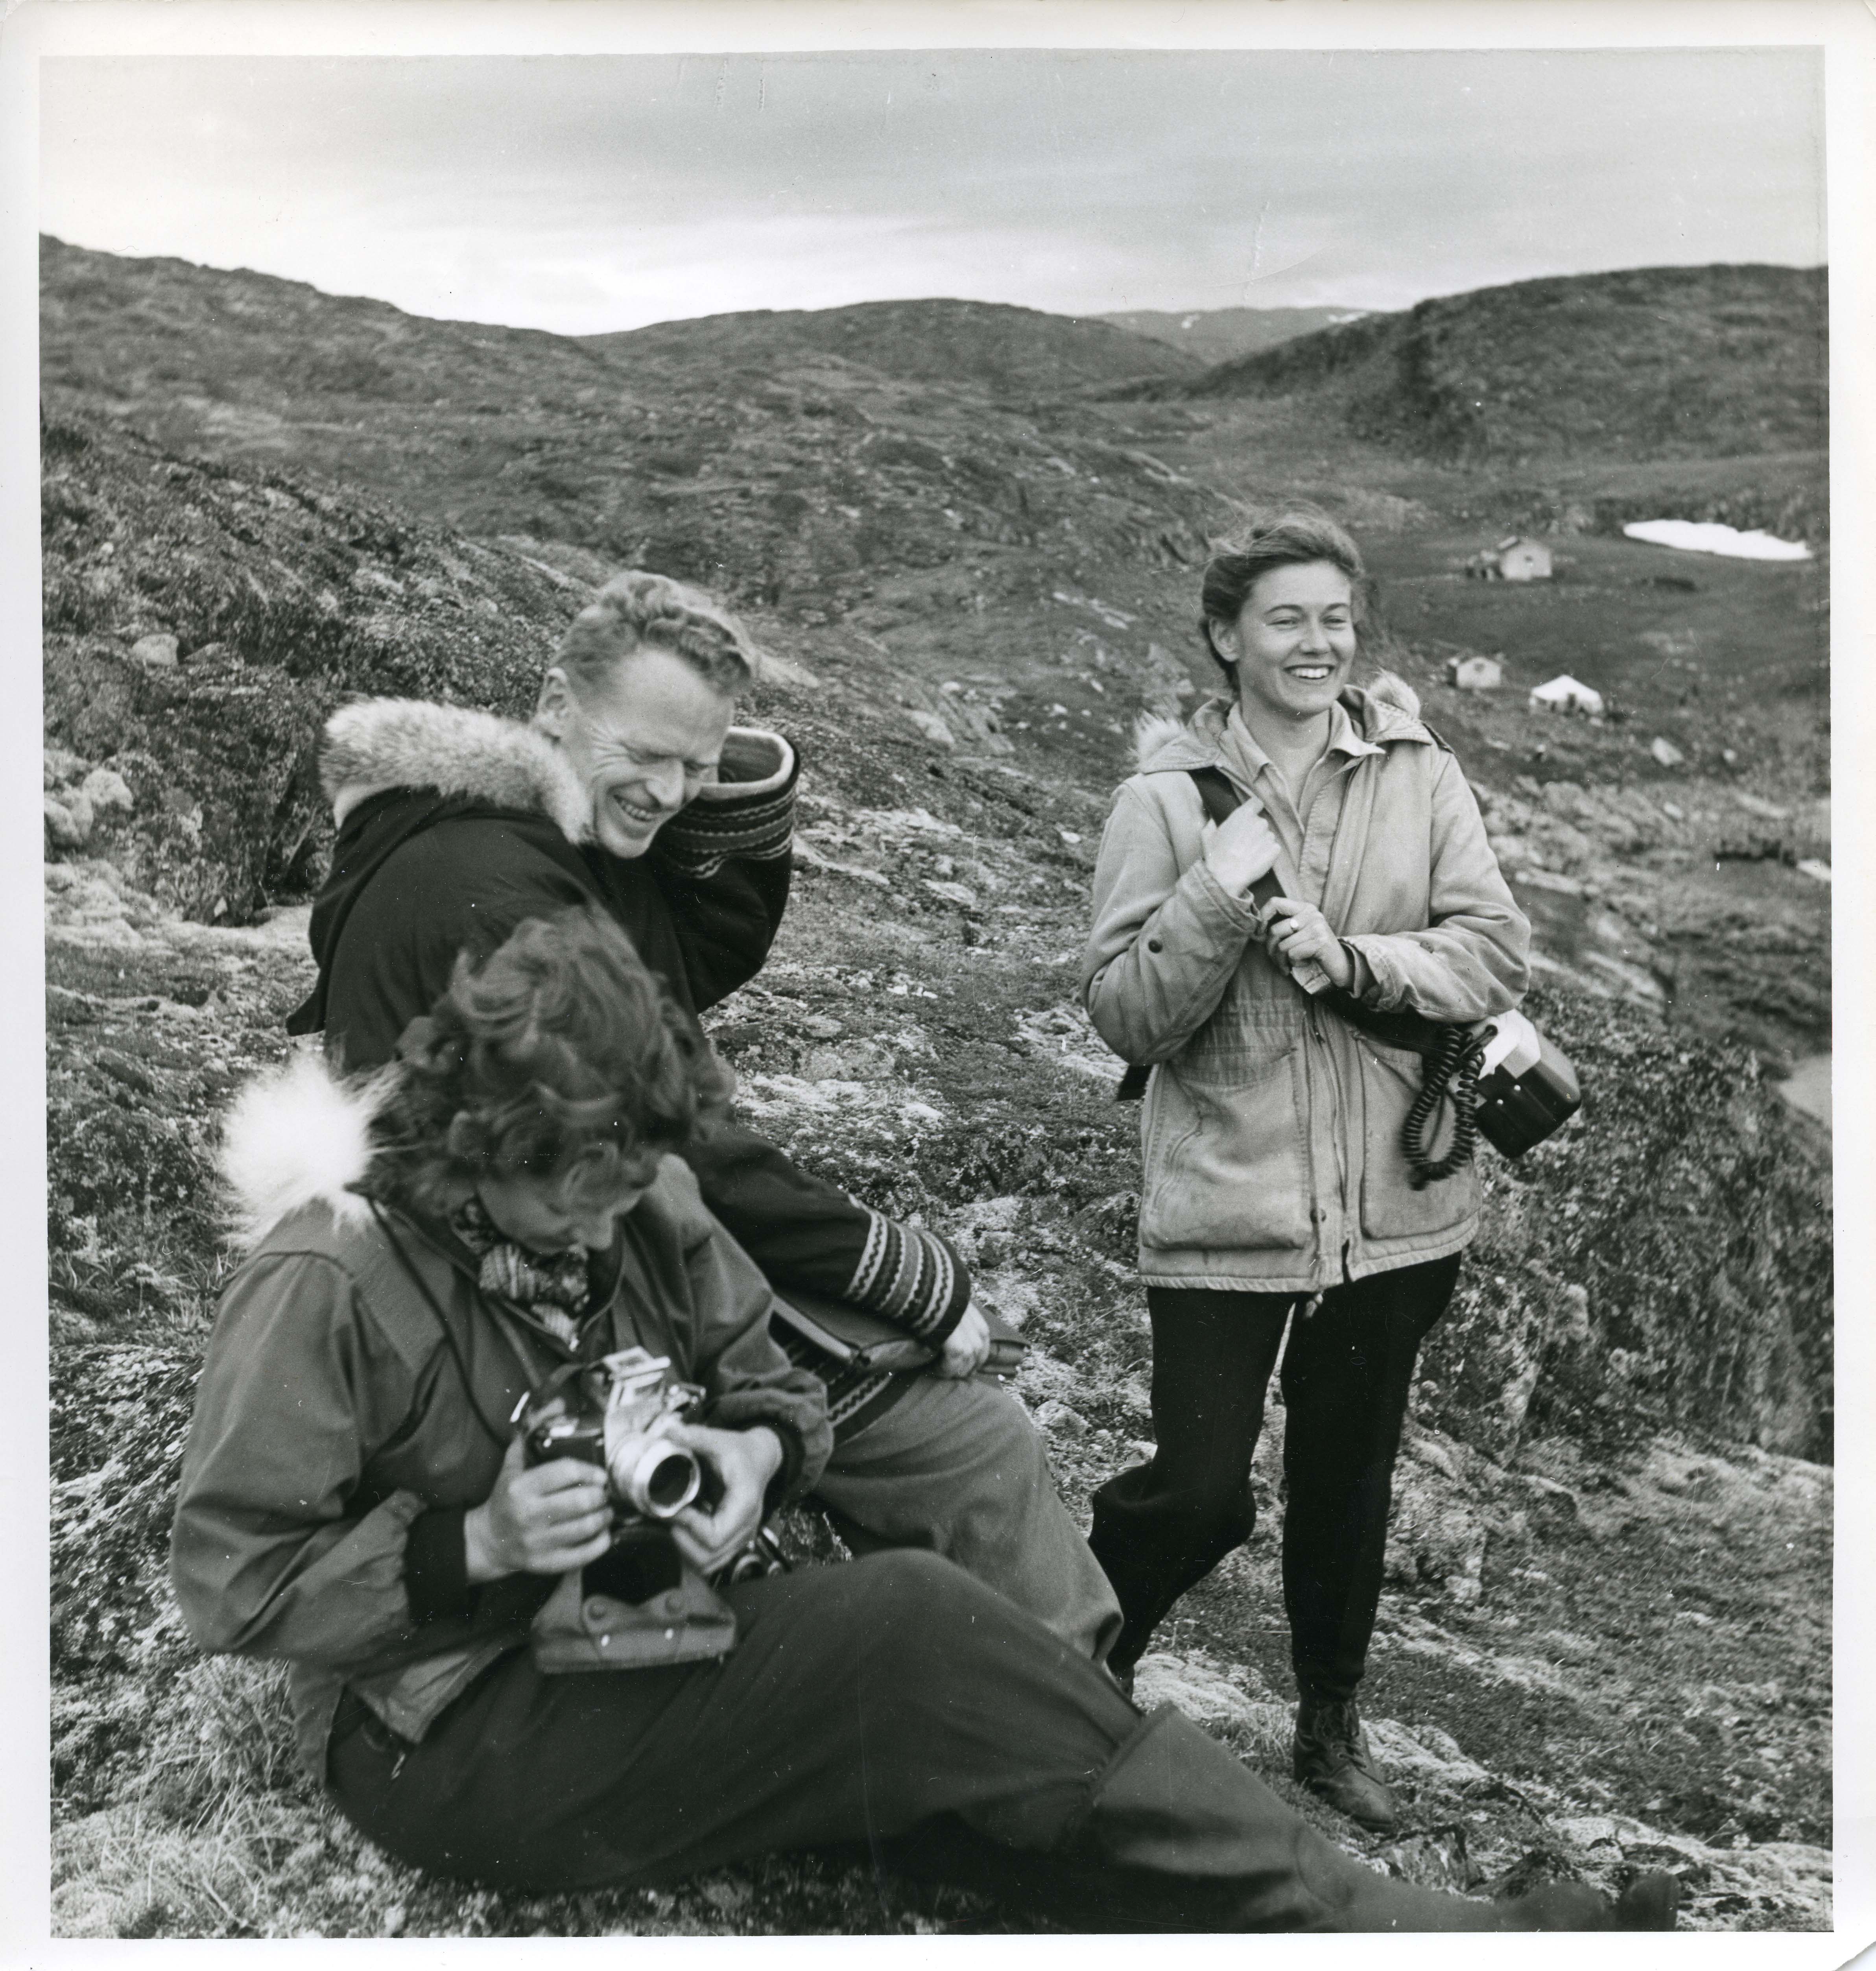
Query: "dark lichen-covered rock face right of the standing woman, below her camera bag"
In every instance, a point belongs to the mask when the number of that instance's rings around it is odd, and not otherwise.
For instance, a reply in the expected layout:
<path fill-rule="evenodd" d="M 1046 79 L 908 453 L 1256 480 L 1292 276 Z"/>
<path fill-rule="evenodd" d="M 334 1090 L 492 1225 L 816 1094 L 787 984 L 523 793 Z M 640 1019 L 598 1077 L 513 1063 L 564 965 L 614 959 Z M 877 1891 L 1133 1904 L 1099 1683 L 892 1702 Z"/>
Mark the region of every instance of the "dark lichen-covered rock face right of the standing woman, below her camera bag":
<path fill-rule="evenodd" d="M 1827 1461 L 1829 1167 L 1744 1047 L 1614 1001 L 1527 1005 L 1584 1106 L 1517 1163 L 1480 1151 L 1486 1214 L 1421 1354 L 1421 1413 L 1494 1457 L 1533 1423 L 1677 1419 Z"/>

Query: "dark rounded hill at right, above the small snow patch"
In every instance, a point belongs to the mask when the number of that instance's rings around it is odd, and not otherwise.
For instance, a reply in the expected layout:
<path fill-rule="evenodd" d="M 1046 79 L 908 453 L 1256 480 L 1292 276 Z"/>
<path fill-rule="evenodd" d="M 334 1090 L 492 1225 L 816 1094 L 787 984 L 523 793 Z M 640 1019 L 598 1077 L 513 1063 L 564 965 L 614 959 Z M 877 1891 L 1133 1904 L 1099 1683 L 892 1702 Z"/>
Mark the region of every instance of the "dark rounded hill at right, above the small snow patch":
<path fill-rule="evenodd" d="M 1760 457 L 1829 443 L 1825 268 L 1521 280 L 1368 315 L 1141 396 L 1318 392 L 1435 459 Z"/>

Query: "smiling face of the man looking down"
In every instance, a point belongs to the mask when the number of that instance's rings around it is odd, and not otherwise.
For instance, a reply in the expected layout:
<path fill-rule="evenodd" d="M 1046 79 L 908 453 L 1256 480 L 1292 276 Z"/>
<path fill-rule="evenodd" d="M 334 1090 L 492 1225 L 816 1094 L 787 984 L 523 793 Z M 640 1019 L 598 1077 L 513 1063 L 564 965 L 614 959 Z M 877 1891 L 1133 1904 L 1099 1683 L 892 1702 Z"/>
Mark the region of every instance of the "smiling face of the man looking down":
<path fill-rule="evenodd" d="M 536 725 L 585 784 L 599 846 L 631 859 L 715 781 L 733 712 L 684 658 L 640 645 L 601 686 L 575 692 L 564 670 L 550 670 Z"/>

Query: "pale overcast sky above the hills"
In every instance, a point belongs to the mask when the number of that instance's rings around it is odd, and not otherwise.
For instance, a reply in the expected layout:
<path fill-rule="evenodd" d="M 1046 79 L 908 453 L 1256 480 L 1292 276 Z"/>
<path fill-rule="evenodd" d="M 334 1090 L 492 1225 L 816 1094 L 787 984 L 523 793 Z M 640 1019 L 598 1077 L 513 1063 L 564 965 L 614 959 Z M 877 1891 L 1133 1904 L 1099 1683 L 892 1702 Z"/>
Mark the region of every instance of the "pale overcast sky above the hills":
<path fill-rule="evenodd" d="M 1403 307 L 1825 252 L 1803 49 L 61 57 L 41 164 L 41 227 L 83 246 L 564 333 Z"/>

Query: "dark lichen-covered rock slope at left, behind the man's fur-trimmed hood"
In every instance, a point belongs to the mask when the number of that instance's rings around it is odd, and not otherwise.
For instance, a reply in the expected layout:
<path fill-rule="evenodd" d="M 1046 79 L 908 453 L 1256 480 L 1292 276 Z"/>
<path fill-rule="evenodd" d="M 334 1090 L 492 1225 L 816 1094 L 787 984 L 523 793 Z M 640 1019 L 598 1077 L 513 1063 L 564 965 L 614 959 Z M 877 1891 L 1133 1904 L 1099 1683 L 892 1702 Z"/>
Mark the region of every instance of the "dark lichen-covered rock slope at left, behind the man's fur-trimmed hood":
<path fill-rule="evenodd" d="M 102 806 L 128 818 L 112 853 L 193 917 L 240 922 L 317 879 L 313 745 L 339 698 L 522 712 L 587 593 L 357 495 L 242 479 L 91 420 L 49 420 L 43 455 L 47 773 L 102 761 Z M 83 848 L 77 796 L 57 804 L 49 838 Z"/>

